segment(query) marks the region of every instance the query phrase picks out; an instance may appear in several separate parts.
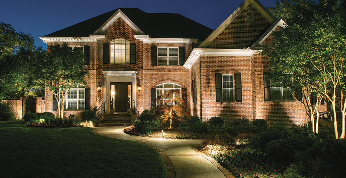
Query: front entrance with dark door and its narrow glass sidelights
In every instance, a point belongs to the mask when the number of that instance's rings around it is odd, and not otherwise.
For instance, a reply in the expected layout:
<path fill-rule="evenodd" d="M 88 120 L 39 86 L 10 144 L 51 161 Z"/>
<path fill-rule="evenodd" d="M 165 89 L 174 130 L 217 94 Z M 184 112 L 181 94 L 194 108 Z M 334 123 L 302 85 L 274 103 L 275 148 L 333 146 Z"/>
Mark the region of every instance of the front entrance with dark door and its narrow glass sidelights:
<path fill-rule="evenodd" d="M 128 96 L 131 93 L 131 87 L 128 86 L 131 84 L 128 83 L 110 83 L 110 108 L 114 109 L 114 112 L 127 112 L 128 107 Z M 113 102 L 113 103 L 112 103 Z M 113 106 L 113 107 L 112 107 Z"/>

